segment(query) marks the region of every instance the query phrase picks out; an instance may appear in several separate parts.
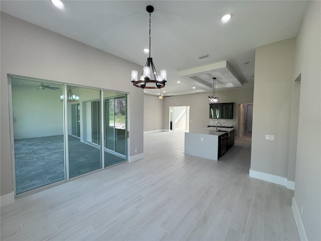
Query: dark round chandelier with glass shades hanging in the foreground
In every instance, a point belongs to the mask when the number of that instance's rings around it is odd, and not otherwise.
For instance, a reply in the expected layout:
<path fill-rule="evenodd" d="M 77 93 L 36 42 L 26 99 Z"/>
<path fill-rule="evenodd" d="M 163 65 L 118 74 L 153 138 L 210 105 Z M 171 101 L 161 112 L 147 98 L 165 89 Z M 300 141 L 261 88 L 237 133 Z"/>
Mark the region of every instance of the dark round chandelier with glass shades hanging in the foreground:
<path fill-rule="evenodd" d="M 161 70 L 161 75 L 157 75 L 156 68 L 152 62 L 152 58 L 150 57 L 150 14 L 154 12 L 154 8 L 149 5 L 146 7 L 146 11 L 149 13 L 149 57 L 147 58 L 147 62 L 145 67 L 143 67 L 143 71 L 139 79 L 137 71 L 131 71 L 131 82 L 134 86 L 139 88 L 159 89 L 165 87 L 167 74 L 166 70 Z M 152 77 L 150 77 L 150 72 Z M 148 83 L 154 83 L 155 85 L 147 86 Z"/>

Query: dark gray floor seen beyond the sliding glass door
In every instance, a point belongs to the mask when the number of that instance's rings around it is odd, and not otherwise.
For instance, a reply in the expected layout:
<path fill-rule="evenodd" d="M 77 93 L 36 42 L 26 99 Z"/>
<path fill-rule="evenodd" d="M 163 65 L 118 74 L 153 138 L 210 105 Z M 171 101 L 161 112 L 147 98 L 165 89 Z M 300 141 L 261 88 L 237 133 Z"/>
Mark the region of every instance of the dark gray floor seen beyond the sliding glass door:
<path fill-rule="evenodd" d="M 68 136 L 69 177 L 101 168 L 100 149 Z M 126 161 L 108 152 L 105 167 Z M 23 193 L 65 179 L 64 136 L 15 140 L 16 192 Z"/>

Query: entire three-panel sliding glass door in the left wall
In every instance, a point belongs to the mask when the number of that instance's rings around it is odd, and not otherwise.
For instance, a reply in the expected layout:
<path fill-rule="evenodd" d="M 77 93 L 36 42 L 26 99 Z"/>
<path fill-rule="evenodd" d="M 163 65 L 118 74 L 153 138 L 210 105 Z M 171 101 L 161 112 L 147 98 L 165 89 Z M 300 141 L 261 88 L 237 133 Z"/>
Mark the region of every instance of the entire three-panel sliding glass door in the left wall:
<path fill-rule="evenodd" d="M 16 194 L 127 160 L 126 94 L 13 76 L 9 87 Z"/>

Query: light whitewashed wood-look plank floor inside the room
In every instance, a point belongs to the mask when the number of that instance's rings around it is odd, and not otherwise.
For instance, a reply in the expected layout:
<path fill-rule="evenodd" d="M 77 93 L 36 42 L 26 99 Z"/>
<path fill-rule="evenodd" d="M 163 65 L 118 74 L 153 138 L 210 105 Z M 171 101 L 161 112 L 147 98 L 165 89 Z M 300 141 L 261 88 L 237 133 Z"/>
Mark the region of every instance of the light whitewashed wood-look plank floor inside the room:
<path fill-rule="evenodd" d="M 250 148 L 212 161 L 184 132 L 147 134 L 144 159 L 1 208 L 1 240 L 299 240 L 293 191 L 250 178 Z"/>

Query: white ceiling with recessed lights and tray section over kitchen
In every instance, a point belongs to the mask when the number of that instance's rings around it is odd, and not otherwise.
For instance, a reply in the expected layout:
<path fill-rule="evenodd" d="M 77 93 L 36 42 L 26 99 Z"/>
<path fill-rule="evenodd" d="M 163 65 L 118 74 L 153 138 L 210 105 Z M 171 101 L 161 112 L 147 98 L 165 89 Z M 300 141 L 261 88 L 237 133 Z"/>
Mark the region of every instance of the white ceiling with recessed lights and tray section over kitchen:
<path fill-rule="evenodd" d="M 150 57 L 166 87 L 145 93 L 181 95 L 254 83 L 255 48 L 295 37 L 307 1 L 4 1 L 1 11 L 138 65 Z M 232 19 L 220 18 L 232 13 Z M 198 56 L 209 57 L 199 59 Z M 245 64 L 245 62 L 249 62 Z M 138 73 L 142 71 L 137 69 Z M 128 73 L 128 84 L 130 82 Z M 178 81 L 180 83 L 178 83 Z M 193 88 L 195 87 L 195 88 Z"/>

